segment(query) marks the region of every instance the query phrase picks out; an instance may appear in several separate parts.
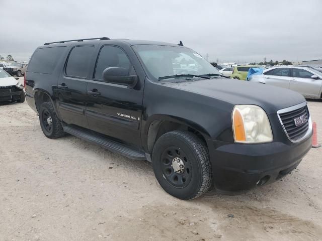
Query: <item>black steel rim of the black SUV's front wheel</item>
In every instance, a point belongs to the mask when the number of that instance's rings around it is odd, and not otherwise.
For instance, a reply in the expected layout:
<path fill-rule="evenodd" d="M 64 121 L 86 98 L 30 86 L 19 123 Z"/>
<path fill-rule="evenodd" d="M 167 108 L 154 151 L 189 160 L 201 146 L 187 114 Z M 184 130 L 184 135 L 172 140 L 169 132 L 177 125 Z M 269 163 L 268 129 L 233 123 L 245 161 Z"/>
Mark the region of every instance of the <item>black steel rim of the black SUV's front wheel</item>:
<path fill-rule="evenodd" d="M 171 166 L 176 159 L 180 159 L 184 163 L 184 171 L 177 173 Z M 179 147 L 167 147 L 161 154 L 160 166 L 163 172 L 163 177 L 169 184 L 176 188 L 186 187 L 191 181 L 192 167 L 191 160 L 186 153 Z"/>

